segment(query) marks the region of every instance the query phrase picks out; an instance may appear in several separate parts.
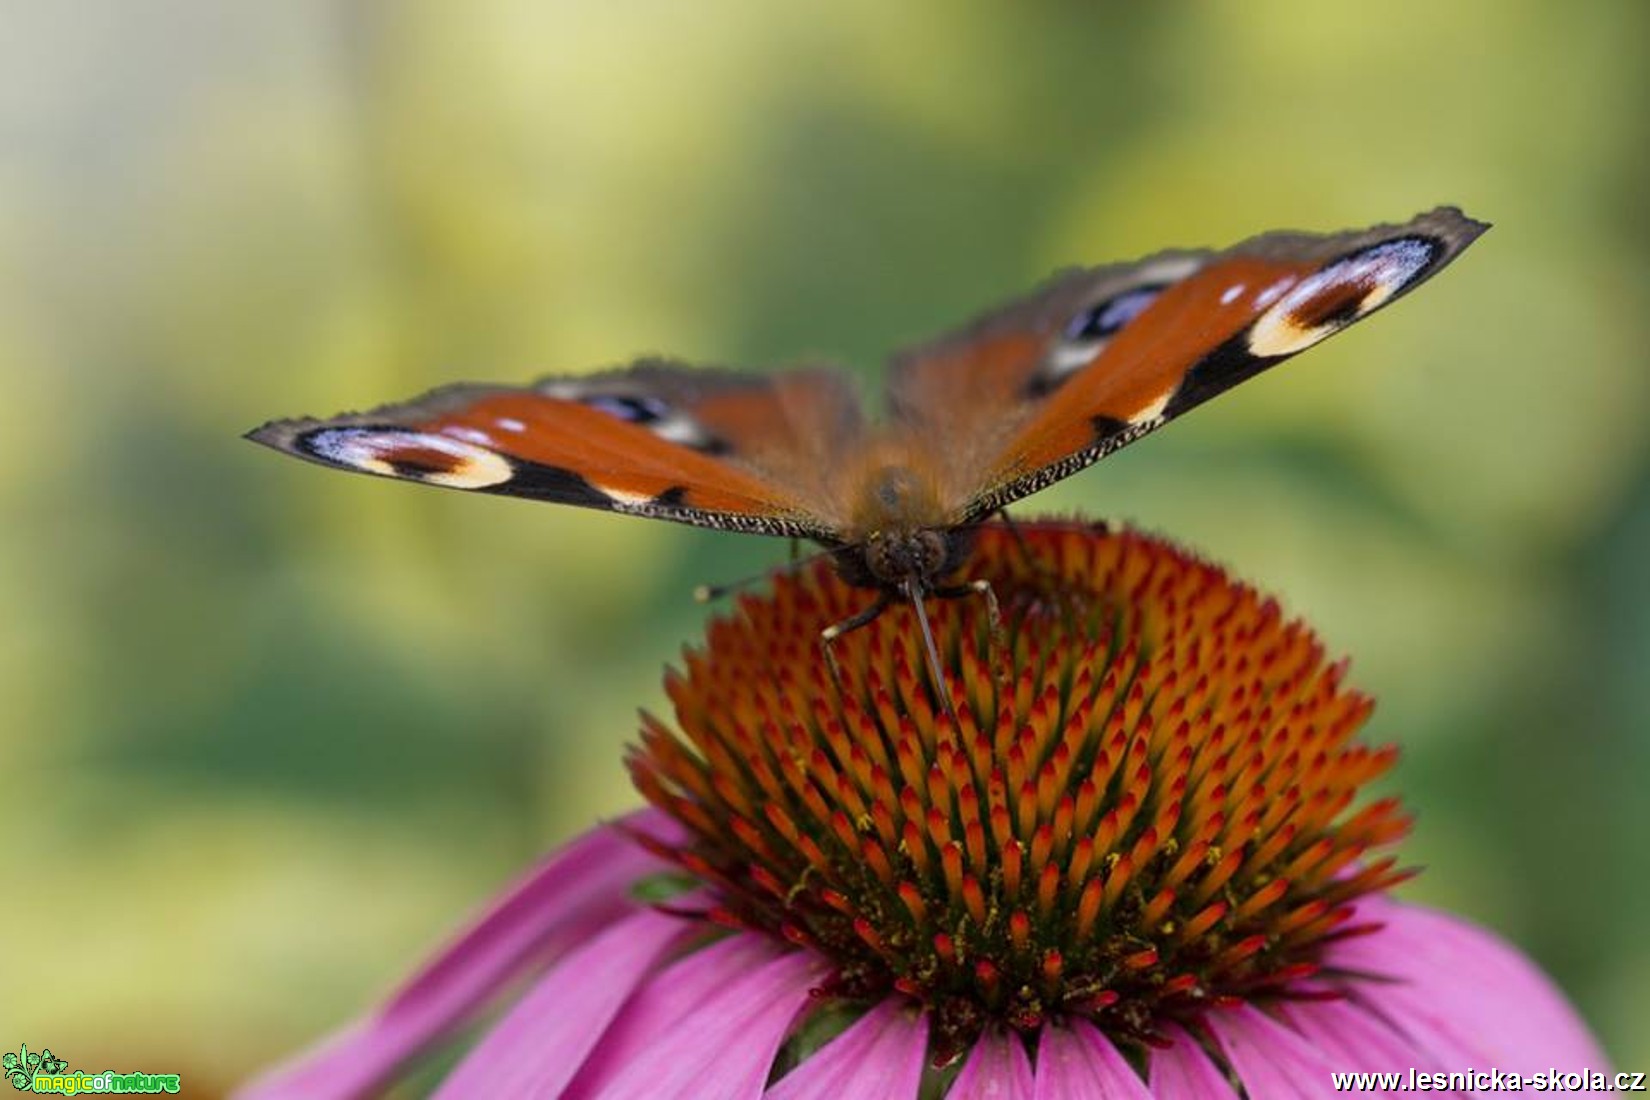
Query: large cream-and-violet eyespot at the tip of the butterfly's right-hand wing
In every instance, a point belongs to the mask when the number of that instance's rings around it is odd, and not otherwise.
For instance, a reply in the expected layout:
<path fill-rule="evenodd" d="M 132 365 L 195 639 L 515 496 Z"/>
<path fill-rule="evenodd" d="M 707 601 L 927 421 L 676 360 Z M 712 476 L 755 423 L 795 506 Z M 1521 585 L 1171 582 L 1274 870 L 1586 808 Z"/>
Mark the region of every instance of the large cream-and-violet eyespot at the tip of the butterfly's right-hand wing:
<path fill-rule="evenodd" d="M 1338 333 L 1426 274 L 1439 252 L 1431 237 L 1401 237 L 1335 261 L 1294 285 L 1251 325 L 1249 355 L 1294 355 Z"/>

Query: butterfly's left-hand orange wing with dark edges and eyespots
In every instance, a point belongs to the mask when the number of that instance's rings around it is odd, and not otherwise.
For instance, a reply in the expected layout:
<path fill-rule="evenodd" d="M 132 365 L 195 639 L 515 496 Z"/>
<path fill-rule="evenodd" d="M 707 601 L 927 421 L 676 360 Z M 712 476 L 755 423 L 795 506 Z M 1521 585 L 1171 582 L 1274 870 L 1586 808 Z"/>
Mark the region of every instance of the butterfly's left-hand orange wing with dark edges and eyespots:
<path fill-rule="evenodd" d="M 863 430 L 837 371 L 744 374 L 645 361 L 528 388 L 447 386 L 249 439 L 426 485 L 706 528 L 832 541 L 828 478 Z"/>

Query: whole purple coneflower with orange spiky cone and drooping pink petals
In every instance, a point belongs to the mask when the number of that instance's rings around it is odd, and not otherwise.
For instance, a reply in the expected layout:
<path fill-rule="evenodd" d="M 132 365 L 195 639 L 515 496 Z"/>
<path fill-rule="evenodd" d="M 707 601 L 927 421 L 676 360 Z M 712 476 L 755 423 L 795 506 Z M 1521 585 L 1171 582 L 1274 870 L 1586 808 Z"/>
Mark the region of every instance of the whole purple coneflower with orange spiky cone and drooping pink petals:
<path fill-rule="evenodd" d="M 368 1095 L 523 988 L 437 1095 L 1270 1098 L 1332 1074 L 1605 1072 L 1516 952 L 1388 896 L 1409 818 L 1361 790 L 1396 750 L 1356 739 L 1373 704 L 1304 623 L 1079 524 L 988 528 L 970 579 L 1000 620 L 931 602 L 940 684 L 909 609 L 830 670 L 820 628 L 863 594 L 825 564 L 742 597 L 670 675 L 675 722 L 644 719 L 652 808 L 246 1095 Z"/>

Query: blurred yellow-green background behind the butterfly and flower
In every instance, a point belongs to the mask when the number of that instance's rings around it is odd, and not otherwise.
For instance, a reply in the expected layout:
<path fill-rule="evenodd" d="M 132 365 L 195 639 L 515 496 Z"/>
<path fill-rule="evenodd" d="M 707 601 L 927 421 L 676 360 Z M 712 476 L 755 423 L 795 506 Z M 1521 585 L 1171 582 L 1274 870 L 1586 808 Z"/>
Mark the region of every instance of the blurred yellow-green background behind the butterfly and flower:
<path fill-rule="evenodd" d="M 206 1095 L 637 800 L 718 536 L 239 440 L 645 351 L 879 371 L 1051 269 L 1459 203 L 1379 320 L 1023 513 L 1353 656 L 1409 896 L 1650 1069 L 1650 7 L 0 2 L 0 1046 Z"/>

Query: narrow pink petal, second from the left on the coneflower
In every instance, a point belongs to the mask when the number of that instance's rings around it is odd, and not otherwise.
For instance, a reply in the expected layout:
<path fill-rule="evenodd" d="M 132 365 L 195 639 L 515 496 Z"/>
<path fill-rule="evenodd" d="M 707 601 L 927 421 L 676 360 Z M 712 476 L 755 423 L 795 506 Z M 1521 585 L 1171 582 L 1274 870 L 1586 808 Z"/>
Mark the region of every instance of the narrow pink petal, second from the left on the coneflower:
<path fill-rule="evenodd" d="M 584 1064 L 635 986 L 695 925 L 644 910 L 551 970 L 441 1084 L 452 1097 L 554 1097 Z"/>

